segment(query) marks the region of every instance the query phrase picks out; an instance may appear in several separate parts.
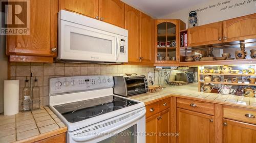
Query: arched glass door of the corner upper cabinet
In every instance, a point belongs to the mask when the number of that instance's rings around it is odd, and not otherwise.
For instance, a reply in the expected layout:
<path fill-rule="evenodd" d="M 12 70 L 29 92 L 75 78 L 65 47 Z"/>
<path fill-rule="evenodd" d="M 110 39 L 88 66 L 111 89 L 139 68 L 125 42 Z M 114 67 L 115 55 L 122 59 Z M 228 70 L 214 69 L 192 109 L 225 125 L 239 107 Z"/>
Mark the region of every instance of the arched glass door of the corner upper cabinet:
<path fill-rule="evenodd" d="M 172 22 L 157 23 L 157 63 L 176 63 L 176 28 Z"/>

